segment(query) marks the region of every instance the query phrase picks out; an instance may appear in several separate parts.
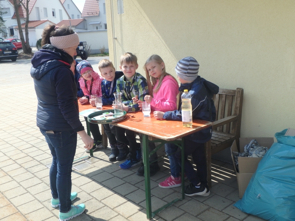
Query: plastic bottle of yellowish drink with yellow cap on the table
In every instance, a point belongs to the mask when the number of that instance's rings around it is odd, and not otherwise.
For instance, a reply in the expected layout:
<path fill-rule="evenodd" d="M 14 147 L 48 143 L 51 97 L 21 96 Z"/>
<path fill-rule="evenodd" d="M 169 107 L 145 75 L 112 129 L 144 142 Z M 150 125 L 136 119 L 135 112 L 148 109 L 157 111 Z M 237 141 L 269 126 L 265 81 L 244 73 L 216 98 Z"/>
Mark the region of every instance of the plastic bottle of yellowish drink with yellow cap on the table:
<path fill-rule="evenodd" d="M 182 125 L 184 127 L 191 127 L 193 125 L 192 118 L 192 106 L 191 106 L 191 94 L 188 90 L 184 90 L 181 95 L 181 113 L 182 113 Z"/>

